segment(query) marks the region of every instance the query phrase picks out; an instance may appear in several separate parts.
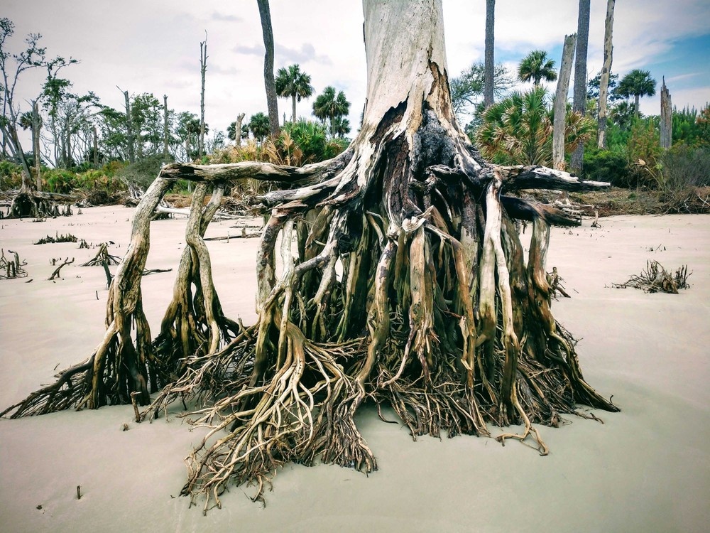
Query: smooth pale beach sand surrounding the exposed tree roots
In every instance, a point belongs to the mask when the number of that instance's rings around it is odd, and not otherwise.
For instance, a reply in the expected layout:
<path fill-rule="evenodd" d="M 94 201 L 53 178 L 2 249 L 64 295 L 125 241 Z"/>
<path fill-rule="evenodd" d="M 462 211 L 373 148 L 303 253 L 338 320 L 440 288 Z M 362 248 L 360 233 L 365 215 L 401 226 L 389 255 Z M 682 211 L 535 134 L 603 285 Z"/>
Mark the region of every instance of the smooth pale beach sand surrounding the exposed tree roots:
<path fill-rule="evenodd" d="M 0 247 L 18 251 L 29 272 L 0 281 L 0 408 L 50 382 L 55 367 L 87 357 L 104 329 L 103 271 L 77 266 L 96 251 L 31 243 L 72 232 L 88 242 L 111 239 L 111 251 L 122 255 L 132 212 L 0 220 Z M 337 466 L 288 465 L 266 508 L 245 496 L 249 488 L 234 487 L 222 510 L 203 517 L 201 505 L 190 509 L 186 498 L 173 497 L 185 480 L 182 459 L 200 440 L 179 420 L 134 424 L 130 406 L 1 419 L 0 531 L 708 531 L 710 216 L 601 223 L 591 229 L 587 221 L 571 235 L 553 230 L 548 267 L 559 268 L 573 297 L 552 311 L 583 338 L 586 379 L 623 411 L 596 411 L 603 425 L 567 417 L 562 429 L 542 427 L 550 456 L 491 438 L 413 442 L 403 427 L 366 413 L 359 424 L 380 468 L 369 478 Z M 213 224 L 208 236 L 226 235 L 233 224 Z M 184 228 L 184 220 L 153 222 L 148 268 L 177 266 Z M 255 317 L 256 240 L 209 243 L 225 311 L 245 323 Z M 67 256 L 76 262 L 63 279 L 46 281 L 50 258 Z M 647 259 L 688 264 L 691 289 L 674 296 L 608 288 L 638 274 Z M 173 277 L 143 279 L 153 333 Z M 125 422 L 129 431 L 121 431 Z"/>

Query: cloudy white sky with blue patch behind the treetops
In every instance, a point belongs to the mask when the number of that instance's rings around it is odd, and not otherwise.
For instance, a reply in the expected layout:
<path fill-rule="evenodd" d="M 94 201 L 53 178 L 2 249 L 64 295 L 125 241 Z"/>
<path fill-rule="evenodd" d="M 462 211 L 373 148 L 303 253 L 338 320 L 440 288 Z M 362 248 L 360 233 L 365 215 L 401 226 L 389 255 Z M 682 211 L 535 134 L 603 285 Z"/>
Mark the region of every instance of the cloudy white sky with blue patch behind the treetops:
<path fill-rule="evenodd" d="M 408 0 L 401 0 L 408 1 Z M 443 0 L 449 77 L 484 57 L 485 0 Z M 498 0 L 496 63 L 515 72 L 530 50 L 546 50 L 559 68 L 566 34 L 577 31 L 577 0 Z M 266 112 L 263 37 L 256 0 L 1 0 L 0 16 L 16 25 L 11 49 L 27 33 L 40 33 L 48 56 L 80 60 L 62 76 L 78 93 L 94 91 L 121 109 L 121 90 L 151 92 L 178 112 L 200 112 L 200 42 L 207 32 L 205 121 L 226 130 L 240 112 L 246 120 Z M 588 77 L 603 63 L 606 1 L 591 0 Z M 311 75 L 315 95 L 327 85 L 345 92 L 356 126 L 366 90 L 363 14 L 359 0 L 271 0 L 274 70 L 298 63 Z M 638 68 L 657 80 L 655 97 L 641 112 L 660 113 L 661 78 L 672 103 L 698 109 L 710 102 L 710 1 L 618 0 L 612 72 Z M 16 100 L 36 97 L 40 72 L 27 75 Z M 523 86 L 524 88 L 524 86 Z M 550 87 L 554 90 L 554 87 Z M 315 95 L 297 104 L 313 118 Z M 280 120 L 290 99 L 279 99 Z"/>

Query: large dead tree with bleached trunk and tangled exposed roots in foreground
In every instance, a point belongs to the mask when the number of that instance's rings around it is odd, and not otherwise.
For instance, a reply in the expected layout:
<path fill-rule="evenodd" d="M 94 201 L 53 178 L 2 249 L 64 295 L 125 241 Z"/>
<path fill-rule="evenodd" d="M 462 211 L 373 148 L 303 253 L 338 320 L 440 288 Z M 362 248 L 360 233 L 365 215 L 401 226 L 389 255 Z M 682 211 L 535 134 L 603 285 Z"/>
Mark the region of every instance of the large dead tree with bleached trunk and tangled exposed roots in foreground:
<path fill-rule="evenodd" d="M 176 400 L 204 399 L 194 416 L 212 431 L 188 459 L 182 494 L 205 495 L 207 510 L 230 480 L 255 483 L 263 497 L 291 461 L 375 470 L 356 424 L 365 399 L 391 404 L 413 436 L 489 436 L 488 424 L 520 424 L 497 440 L 532 441 L 542 454 L 533 423 L 558 426 L 577 404 L 618 410 L 584 381 L 574 341 L 550 312 L 549 224 L 574 220 L 508 195 L 595 184 L 480 158 L 452 112 L 440 0 L 365 0 L 364 13 L 367 104 L 349 149 L 301 168 L 163 167 L 136 209 L 97 350 L 3 414 L 133 397 L 151 404 L 139 416 L 153 418 Z M 152 342 L 141 273 L 153 209 L 179 178 L 200 183 Z M 249 328 L 224 317 L 202 240 L 214 212 L 202 207 L 204 190 L 239 178 L 292 185 L 254 199 L 271 217 Z M 527 265 L 514 218 L 532 220 Z M 160 389 L 155 399 L 148 387 Z"/>

